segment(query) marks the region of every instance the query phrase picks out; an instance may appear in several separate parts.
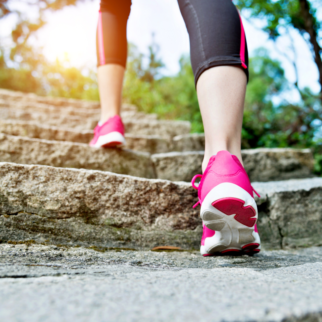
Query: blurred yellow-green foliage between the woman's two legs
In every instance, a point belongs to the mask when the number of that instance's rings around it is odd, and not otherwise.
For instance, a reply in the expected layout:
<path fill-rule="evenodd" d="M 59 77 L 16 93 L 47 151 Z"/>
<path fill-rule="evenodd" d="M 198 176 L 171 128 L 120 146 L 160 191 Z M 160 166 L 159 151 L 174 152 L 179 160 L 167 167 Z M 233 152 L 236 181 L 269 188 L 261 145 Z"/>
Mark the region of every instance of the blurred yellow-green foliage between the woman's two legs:
<path fill-rule="evenodd" d="M 193 132 L 203 132 L 189 57 L 180 59 L 180 71 L 176 76 L 162 77 L 159 69 L 164 64 L 156 58 L 157 46 L 152 45 L 149 50 L 149 63 L 143 68 L 143 55 L 133 44 L 129 45 L 124 100 L 147 113 L 157 113 L 161 118 L 189 120 Z"/>

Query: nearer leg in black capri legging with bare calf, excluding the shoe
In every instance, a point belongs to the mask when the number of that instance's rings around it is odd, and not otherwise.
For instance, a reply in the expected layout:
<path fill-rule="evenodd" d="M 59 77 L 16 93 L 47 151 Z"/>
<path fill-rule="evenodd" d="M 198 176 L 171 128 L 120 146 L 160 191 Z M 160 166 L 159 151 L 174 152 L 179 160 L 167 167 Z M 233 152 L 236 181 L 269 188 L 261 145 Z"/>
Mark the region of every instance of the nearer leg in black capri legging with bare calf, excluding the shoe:
<path fill-rule="evenodd" d="M 205 132 L 205 170 L 227 150 L 242 162 L 241 131 L 248 78 L 247 44 L 231 0 L 178 0 L 190 38 L 191 65 Z"/>

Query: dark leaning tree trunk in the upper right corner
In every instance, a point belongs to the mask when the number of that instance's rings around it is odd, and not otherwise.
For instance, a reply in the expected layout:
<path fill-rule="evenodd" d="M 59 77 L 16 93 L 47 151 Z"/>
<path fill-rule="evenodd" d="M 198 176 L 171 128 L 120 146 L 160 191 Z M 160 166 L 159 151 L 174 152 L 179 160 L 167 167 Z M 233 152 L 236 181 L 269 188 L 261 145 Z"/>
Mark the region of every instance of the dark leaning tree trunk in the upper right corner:
<path fill-rule="evenodd" d="M 313 28 L 313 16 L 310 14 L 309 3 L 307 0 L 299 0 L 299 4 L 301 7 L 300 15 L 304 20 L 304 29 L 310 35 L 310 43 L 313 46 L 313 51 L 315 54 L 314 60 L 317 64 L 317 69 L 319 71 L 319 82 L 321 85 L 321 95 L 322 95 L 322 60 L 320 56 L 321 47 L 317 43 L 317 33 Z"/>

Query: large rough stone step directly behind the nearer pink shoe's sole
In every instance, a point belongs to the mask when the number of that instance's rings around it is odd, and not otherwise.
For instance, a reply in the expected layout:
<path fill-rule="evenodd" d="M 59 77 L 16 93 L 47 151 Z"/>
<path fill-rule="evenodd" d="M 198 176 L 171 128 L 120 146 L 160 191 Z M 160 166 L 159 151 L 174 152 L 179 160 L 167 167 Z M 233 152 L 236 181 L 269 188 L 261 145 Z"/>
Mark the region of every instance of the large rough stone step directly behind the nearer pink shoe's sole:
<path fill-rule="evenodd" d="M 255 182 L 263 248 L 322 243 L 322 178 Z M 0 240 L 198 249 L 189 183 L 85 169 L 0 163 Z"/>

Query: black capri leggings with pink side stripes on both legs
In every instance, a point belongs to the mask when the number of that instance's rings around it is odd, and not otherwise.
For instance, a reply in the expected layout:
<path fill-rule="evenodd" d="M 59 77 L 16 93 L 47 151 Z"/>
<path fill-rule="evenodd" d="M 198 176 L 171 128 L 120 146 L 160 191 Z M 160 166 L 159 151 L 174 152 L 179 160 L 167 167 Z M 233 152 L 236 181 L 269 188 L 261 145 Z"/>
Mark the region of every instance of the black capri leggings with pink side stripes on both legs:
<path fill-rule="evenodd" d="M 214 66 L 236 65 L 248 81 L 248 51 L 240 15 L 231 0 L 178 0 L 190 39 L 194 81 Z M 97 28 L 98 65 L 125 67 L 126 25 L 131 0 L 101 0 Z"/>

